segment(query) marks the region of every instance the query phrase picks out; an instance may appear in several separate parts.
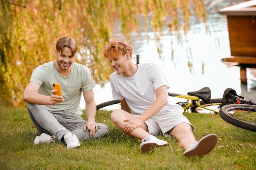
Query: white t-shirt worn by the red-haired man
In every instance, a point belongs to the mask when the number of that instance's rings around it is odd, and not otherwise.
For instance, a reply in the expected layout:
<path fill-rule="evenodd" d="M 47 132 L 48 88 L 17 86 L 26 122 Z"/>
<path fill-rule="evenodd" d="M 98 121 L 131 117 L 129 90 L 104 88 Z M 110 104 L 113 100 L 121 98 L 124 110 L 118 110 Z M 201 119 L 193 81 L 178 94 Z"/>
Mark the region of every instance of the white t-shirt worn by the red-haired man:
<path fill-rule="evenodd" d="M 116 100 L 126 100 L 126 103 L 134 114 L 142 114 L 155 101 L 155 89 L 165 85 L 168 86 L 167 78 L 162 68 L 155 64 L 139 64 L 137 72 L 131 77 L 113 72 L 110 76 L 113 98 Z M 170 110 L 177 104 L 168 100 L 163 107 Z"/>

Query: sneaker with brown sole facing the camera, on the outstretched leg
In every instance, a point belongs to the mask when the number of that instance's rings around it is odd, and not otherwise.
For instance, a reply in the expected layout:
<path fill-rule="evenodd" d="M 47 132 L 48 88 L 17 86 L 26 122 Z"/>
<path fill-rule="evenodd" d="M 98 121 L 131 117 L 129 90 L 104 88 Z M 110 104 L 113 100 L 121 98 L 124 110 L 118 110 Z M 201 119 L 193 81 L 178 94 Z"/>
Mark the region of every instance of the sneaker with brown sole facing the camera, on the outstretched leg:
<path fill-rule="evenodd" d="M 186 157 L 194 157 L 208 154 L 213 150 L 217 142 L 218 136 L 216 134 L 208 134 L 200 139 L 200 141 L 192 143 L 183 155 Z"/>

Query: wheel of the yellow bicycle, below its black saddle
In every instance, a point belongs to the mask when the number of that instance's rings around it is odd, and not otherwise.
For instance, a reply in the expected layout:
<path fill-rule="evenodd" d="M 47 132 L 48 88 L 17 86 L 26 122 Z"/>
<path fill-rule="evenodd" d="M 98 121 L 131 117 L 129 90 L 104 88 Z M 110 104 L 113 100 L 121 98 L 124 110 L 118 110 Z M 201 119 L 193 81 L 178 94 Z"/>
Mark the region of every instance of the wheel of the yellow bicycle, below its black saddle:
<path fill-rule="evenodd" d="M 211 110 L 215 110 L 216 112 L 204 109 L 202 107 L 198 107 L 198 105 L 192 105 L 191 112 L 203 113 L 203 114 L 218 113 L 220 110 L 220 107 L 222 107 L 222 98 L 213 98 L 213 99 L 210 99 L 210 101 L 208 102 L 200 101 L 200 105 L 207 107 Z"/>

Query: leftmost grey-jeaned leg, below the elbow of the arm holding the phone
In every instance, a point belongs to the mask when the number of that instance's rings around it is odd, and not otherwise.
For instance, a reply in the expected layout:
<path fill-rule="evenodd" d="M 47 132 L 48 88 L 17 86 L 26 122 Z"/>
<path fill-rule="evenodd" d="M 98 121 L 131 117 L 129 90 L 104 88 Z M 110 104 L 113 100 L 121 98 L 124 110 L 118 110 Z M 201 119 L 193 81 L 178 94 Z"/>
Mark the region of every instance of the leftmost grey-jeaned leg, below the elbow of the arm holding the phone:
<path fill-rule="evenodd" d="M 70 132 L 43 105 L 27 103 L 27 110 L 39 133 L 47 131 L 61 141 L 63 135 Z"/>

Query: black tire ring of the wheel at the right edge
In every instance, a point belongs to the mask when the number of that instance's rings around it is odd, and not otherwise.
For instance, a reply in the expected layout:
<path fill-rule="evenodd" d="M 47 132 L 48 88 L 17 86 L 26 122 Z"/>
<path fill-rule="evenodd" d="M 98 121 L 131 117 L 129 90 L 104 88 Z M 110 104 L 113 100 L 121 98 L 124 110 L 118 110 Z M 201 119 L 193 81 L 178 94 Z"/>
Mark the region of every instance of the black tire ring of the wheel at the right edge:
<path fill-rule="evenodd" d="M 244 110 L 244 111 L 251 110 L 253 112 L 256 112 L 256 105 L 230 104 L 230 105 L 224 105 L 220 108 L 220 117 L 223 120 L 225 120 L 227 123 L 235 125 L 239 128 L 256 132 L 256 124 L 248 123 L 246 121 L 242 121 L 240 119 L 234 118 L 233 116 L 230 116 L 228 112 L 231 110 Z"/>

